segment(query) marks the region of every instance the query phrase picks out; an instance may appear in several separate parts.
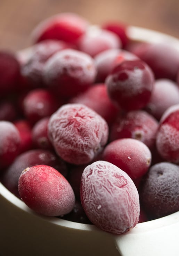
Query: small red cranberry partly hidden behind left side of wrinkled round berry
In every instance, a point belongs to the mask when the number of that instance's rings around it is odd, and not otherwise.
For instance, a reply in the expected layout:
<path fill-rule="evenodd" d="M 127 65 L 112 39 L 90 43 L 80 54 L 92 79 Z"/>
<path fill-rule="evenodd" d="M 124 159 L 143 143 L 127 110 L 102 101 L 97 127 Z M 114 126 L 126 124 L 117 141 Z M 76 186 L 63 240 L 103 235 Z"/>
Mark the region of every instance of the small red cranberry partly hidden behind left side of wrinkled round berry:
<path fill-rule="evenodd" d="M 53 146 L 48 138 L 48 123 L 49 117 L 40 119 L 33 126 L 32 129 L 32 140 L 34 146 L 42 149 L 52 149 Z"/>

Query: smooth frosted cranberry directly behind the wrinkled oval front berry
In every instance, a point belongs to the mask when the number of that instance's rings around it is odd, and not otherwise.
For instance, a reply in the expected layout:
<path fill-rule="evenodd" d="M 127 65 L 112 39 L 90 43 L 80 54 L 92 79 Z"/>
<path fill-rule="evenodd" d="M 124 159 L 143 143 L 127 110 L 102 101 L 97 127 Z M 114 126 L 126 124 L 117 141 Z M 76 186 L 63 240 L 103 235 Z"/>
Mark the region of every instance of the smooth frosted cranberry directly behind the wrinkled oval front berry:
<path fill-rule="evenodd" d="M 121 168 L 134 180 L 147 172 L 152 156 L 143 142 L 126 138 L 109 143 L 104 149 L 103 159 Z"/>

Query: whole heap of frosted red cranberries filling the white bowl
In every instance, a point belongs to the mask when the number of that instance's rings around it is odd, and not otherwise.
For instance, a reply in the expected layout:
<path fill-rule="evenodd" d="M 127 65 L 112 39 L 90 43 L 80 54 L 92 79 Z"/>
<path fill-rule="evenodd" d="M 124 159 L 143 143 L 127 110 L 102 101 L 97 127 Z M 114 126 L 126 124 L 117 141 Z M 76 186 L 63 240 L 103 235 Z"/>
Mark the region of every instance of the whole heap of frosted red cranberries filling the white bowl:
<path fill-rule="evenodd" d="M 179 211 L 179 52 L 127 29 L 62 13 L 0 51 L 1 183 L 113 234 Z"/>

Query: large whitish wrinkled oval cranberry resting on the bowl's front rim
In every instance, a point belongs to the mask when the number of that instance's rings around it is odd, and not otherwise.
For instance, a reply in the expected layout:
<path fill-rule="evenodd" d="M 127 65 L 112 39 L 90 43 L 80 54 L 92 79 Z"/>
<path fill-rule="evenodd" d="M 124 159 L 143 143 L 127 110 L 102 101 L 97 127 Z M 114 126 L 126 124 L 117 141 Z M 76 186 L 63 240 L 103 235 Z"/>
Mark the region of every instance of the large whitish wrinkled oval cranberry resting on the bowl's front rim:
<path fill-rule="evenodd" d="M 82 174 L 81 203 L 89 220 L 98 228 L 121 234 L 139 220 L 139 195 L 131 178 L 106 161 L 93 162 Z"/>

